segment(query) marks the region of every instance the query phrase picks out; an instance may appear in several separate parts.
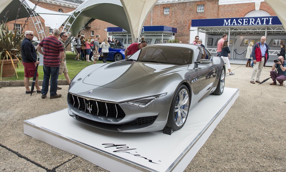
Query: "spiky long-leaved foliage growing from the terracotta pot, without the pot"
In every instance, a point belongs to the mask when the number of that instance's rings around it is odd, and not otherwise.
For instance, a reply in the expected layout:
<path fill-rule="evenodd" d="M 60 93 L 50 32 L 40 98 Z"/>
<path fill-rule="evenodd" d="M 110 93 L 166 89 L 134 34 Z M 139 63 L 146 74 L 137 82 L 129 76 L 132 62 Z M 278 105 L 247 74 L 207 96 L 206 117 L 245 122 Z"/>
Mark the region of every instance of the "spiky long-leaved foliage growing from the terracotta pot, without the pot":
<path fill-rule="evenodd" d="M 0 22 L 0 60 L 2 60 L 0 61 L 0 80 L 2 80 L 4 60 L 8 61 L 8 59 L 11 59 L 11 61 L 13 61 L 13 59 L 17 59 L 21 64 L 21 44 L 23 38 L 23 33 L 19 33 L 18 30 L 9 30 L 5 21 Z M 12 65 L 18 78 L 16 71 L 16 67 L 18 68 L 18 65 L 15 66 L 14 63 L 12 63 Z"/>

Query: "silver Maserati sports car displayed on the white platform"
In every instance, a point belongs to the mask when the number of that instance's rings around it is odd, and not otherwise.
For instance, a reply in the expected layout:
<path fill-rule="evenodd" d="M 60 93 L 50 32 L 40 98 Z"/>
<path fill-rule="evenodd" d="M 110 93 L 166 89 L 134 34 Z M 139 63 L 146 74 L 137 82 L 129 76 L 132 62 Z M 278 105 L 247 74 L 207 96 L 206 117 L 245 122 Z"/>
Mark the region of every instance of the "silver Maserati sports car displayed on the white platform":
<path fill-rule="evenodd" d="M 155 44 L 84 68 L 69 86 L 68 113 L 110 131 L 179 130 L 189 109 L 211 93 L 221 95 L 224 82 L 223 60 L 203 47 Z"/>

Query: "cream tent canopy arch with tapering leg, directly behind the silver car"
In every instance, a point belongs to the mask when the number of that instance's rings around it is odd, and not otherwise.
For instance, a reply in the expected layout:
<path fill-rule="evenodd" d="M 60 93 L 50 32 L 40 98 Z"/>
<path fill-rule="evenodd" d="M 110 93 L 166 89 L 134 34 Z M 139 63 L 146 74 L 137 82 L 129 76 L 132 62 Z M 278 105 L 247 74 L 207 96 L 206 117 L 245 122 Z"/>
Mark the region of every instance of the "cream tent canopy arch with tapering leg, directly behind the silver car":
<path fill-rule="evenodd" d="M 77 35 L 93 19 L 112 23 L 131 33 L 132 40 L 140 36 L 147 15 L 157 0 L 87 0 L 74 11 L 65 24 Z M 106 12 L 112 9 L 113 12 Z"/>

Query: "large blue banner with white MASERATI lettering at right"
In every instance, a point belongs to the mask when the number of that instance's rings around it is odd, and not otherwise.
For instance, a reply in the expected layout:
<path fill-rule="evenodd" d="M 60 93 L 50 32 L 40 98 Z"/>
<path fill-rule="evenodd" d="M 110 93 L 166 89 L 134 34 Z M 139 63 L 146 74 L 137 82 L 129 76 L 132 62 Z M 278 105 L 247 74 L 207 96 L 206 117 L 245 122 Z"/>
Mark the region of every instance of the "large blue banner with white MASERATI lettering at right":
<path fill-rule="evenodd" d="M 192 27 L 282 25 L 277 16 L 192 19 Z"/>

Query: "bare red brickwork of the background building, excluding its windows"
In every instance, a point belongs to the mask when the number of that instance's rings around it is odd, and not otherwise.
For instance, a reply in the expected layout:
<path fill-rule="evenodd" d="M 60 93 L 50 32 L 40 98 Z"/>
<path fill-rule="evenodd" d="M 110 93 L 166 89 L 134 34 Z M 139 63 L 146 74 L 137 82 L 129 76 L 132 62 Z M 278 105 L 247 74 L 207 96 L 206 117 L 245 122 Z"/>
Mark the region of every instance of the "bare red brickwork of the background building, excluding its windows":
<path fill-rule="evenodd" d="M 32 1 L 36 3 L 36 1 Z M 204 12 L 197 12 L 197 5 L 204 5 Z M 63 12 L 70 12 L 75 8 L 60 6 L 58 4 L 39 2 L 38 6 L 43 8 L 58 11 L 62 9 Z M 170 13 L 163 14 L 164 8 L 169 7 Z M 267 3 L 262 2 L 260 6 L 261 10 L 267 11 L 270 15 L 276 15 L 272 8 Z M 179 2 L 179 3 L 167 3 L 158 4 L 153 7 L 152 25 L 153 26 L 170 26 L 177 28 L 175 38 L 183 43 L 189 42 L 190 26 L 192 19 L 210 19 L 210 18 L 225 18 L 225 17 L 243 17 L 248 12 L 255 10 L 254 3 L 243 3 L 243 4 L 230 4 L 220 5 L 219 0 L 208 0 L 208 1 L 191 1 L 191 2 Z M 40 17 L 41 23 L 44 26 L 46 36 L 49 36 L 49 27 L 45 27 L 44 20 Z M 23 24 L 25 19 L 18 19 L 16 23 Z M 12 28 L 14 21 L 9 22 L 8 26 Z M 151 12 L 147 16 L 144 26 L 151 26 Z M 82 30 L 80 33 L 85 37 L 95 39 L 96 35 L 101 36 L 101 41 L 107 38 L 107 27 L 115 27 L 115 25 L 107 23 L 105 21 L 94 20 L 89 28 Z M 31 19 L 26 24 L 24 30 L 32 30 L 36 33 L 34 24 Z M 91 30 L 94 31 L 94 36 L 91 36 Z M 35 34 L 36 35 L 36 34 Z M 37 35 L 36 35 L 37 36 Z"/>

